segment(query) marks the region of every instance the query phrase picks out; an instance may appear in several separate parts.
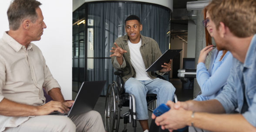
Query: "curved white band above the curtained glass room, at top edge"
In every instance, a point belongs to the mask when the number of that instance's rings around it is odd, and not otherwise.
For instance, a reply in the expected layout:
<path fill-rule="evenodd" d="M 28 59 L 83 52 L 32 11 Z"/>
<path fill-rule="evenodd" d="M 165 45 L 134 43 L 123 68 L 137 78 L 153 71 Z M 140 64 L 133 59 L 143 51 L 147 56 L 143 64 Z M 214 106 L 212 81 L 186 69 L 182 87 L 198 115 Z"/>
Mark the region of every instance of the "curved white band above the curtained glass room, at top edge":
<path fill-rule="evenodd" d="M 85 2 L 94 2 L 94 1 L 108 1 L 108 0 L 73 0 L 73 11 L 76 10 L 79 6 Z M 122 0 L 118 0 L 122 1 Z M 165 6 L 170 10 L 173 10 L 173 0 L 123 0 L 123 1 L 139 1 L 147 3 L 155 3 L 161 6 Z"/>

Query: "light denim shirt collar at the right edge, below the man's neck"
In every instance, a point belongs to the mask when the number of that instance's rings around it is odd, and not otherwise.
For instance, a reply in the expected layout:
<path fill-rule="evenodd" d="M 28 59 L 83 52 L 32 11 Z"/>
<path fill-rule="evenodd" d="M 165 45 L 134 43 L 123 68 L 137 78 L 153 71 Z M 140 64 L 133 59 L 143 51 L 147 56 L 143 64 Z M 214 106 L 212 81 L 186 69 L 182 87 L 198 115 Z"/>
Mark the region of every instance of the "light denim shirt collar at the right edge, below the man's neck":
<path fill-rule="evenodd" d="M 251 40 L 250 46 L 248 48 L 248 51 L 246 53 L 246 58 L 244 61 L 243 66 L 246 68 L 251 68 L 253 65 L 253 54 L 256 52 L 256 34 L 253 35 L 253 39 Z"/>

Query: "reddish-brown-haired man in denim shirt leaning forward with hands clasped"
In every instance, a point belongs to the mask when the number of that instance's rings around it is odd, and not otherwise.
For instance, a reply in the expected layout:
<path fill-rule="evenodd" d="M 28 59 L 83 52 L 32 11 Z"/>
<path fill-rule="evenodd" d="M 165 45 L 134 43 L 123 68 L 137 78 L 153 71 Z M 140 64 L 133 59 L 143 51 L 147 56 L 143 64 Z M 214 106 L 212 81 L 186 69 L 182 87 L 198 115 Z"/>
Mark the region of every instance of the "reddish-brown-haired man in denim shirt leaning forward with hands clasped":
<path fill-rule="evenodd" d="M 171 109 L 152 119 L 170 132 L 256 132 L 256 1 L 212 0 L 206 8 L 217 49 L 234 57 L 227 84 L 212 100 L 168 101 Z"/>

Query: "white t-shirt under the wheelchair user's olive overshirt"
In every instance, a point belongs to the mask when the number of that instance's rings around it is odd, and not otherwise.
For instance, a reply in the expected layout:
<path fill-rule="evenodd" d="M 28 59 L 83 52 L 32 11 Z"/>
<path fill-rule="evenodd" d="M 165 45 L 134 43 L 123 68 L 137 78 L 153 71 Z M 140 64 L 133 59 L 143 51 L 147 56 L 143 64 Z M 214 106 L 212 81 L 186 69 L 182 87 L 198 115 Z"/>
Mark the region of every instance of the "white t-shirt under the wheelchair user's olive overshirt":
<path fill-rule="evenodd" d="M 138 44 L 133 44 L 128 40 L 128 46 L 130 49 L 130 56 L 131 56 L 131 65 L 135 68 L 137 80 L 152 80 L 148 77 L 146 72 L 145 64 L 143 62 L 143 58 L 141 56 L 140 47 L 141 47 L 141 40 Z"/>

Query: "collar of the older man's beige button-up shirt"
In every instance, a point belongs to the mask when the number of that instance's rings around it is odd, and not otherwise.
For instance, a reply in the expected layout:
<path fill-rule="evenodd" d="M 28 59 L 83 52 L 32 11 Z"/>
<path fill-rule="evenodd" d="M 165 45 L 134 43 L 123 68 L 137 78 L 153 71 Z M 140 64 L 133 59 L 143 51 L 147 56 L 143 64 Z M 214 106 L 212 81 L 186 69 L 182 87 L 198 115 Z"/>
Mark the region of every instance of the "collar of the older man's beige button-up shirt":
<path fill-rule="evenodd" d="M 15 39 L 13 39 L 10 35 L 7 34 L 8 31 L 3 32 L 3 40 L 7 42 L 10 47 L 12 47 L 16 52 L 20 51 L 23 45 L 21 45 L 19 42 L 17 42 Z M 31 49 L 32 50 L 32 45 L 31 43 L 27 45 L 27 50 Z M 33 50 L 32 50 L 33 51 Z"/>

